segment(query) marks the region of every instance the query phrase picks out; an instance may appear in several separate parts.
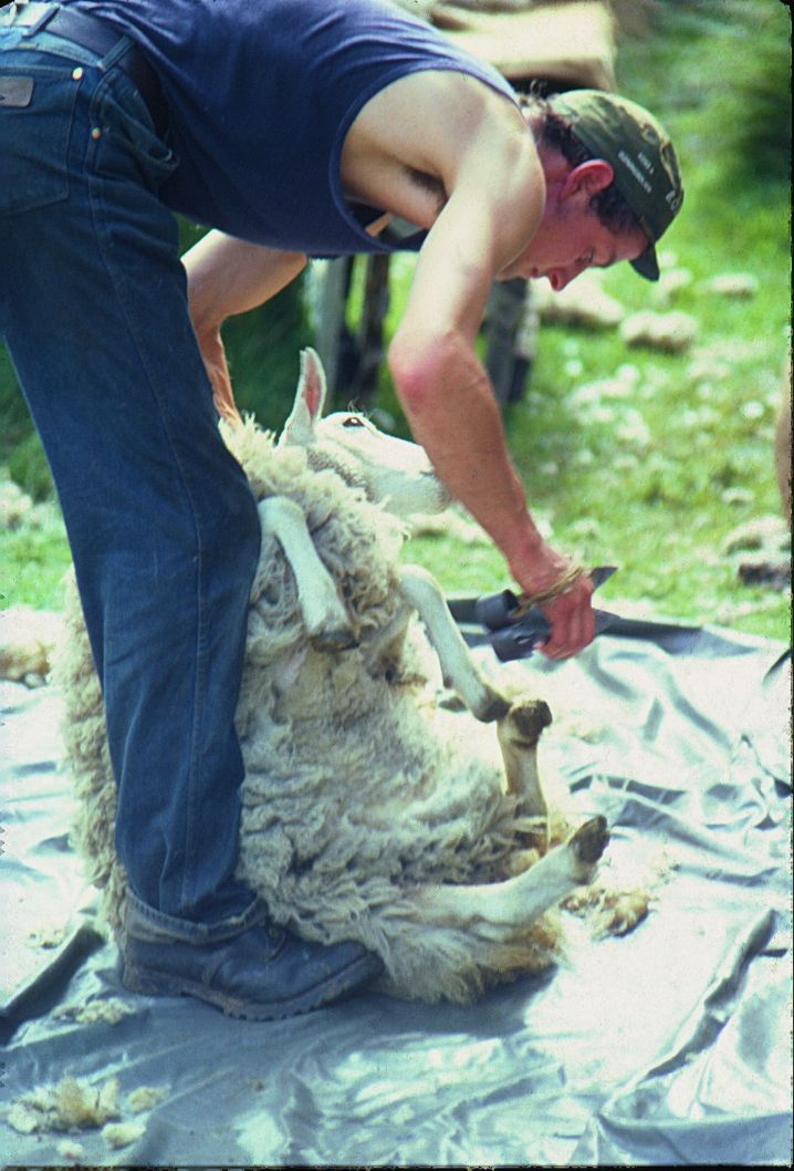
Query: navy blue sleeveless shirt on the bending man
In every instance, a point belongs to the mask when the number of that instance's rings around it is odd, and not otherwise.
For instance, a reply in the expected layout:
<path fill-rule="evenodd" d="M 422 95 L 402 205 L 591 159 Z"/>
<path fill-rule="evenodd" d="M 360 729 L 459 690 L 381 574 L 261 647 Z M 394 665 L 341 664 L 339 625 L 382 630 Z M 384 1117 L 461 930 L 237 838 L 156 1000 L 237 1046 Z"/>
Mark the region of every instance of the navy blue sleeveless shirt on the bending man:
<path fill-rule="evenodd" d="M 179 160 L 160 191 L 167 206 L 270 247 L 310 255 L 392 251 L 367 235 L 339 177 L 351 123 L 391 82 L 451 69 L 515 101 L 495 69 L 381 0 L 76 0 L 75 7 L 129 33 L 159 75 Z"/>

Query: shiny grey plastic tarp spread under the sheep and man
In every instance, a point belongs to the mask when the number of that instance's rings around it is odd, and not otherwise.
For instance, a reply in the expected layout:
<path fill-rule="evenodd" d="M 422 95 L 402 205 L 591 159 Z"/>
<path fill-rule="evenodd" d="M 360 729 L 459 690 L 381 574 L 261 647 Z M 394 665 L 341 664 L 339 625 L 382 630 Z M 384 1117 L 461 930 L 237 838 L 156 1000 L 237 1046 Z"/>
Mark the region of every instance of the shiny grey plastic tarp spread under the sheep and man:
<path fill-rule="evenodd" d="M 161 1088 L 132 1145 L 70 1136 L 91 1165 L 790 1164 L 786 648 L 626 622 L 522 666 L 601 713 L 598 735 L 550 741 L 548 763 L 576 810 L 608 817 L 613 857 L 675 858 L 650 915 L 601 940 L 571 919 L 565 964 L 468 1007 L 371 992 L 275 1023 L 125 994 L 69 847 L 58 697 L 4 684 L 4 1107 L 65 1074 L 116 1076 L 123 1101 Z M 57 1015 L 108 998 L 133 1012 Z M 6 1162 L 67 1162 L 67 1136 L 6 1112 Z"/>

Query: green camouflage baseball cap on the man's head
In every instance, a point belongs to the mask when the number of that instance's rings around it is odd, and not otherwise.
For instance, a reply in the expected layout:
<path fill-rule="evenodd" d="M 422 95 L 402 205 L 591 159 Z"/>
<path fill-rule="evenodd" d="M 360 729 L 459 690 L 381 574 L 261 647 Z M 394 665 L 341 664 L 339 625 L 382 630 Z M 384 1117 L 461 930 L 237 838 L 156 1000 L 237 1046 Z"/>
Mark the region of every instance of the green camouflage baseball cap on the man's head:
<path fill-rule="evenodd" d="M 551 105 L 569 119 L 575 138 L 610 164 L 615 186 L 651 241 L 631 265 L 641 276 L 657 281 L 655 244 L 684 199 L 678 160 L 667 131 L 642 105 L 598 89 L 558 94 Z"/>

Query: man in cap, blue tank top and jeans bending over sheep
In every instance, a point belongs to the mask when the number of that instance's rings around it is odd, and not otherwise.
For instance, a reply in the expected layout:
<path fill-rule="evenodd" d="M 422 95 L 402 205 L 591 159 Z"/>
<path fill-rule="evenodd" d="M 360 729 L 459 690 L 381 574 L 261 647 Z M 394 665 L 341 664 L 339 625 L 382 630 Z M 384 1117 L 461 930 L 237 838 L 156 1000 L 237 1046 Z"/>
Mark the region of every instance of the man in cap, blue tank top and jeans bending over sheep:
<path fill-rule="evenodd" d="M 681 185 L 640 108 L 586 94 L 547 115 L 527 122 L 496 73 L 379 0 L 18 2 L 0 25 L 0 331 L 103 687 L 132 989 L 268 1019 L 379 971 L 276 929 L 235 877 L 258 525 L 213 408 L 214 390 L 234 411 L 230 314 L 308 255 L 415 225 L 389 351 L 414 436 L 545 602 L 545 652 L 593 637 L 591 583 L 527 512 L 475 336 L 495 279 L 560 289 L 619 260 L 653 278 Z M 214 228 L 184 265 L 174 211 Z"/>

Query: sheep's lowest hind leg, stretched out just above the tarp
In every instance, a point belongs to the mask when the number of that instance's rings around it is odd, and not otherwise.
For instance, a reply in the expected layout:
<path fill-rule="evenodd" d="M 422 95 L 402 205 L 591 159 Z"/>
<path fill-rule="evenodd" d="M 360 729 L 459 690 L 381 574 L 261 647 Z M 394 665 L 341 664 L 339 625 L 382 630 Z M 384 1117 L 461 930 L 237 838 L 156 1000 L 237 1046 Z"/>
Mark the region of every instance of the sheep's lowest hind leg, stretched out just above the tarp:
<path fill-rule="evenodd" d="M 580 826 L 524 874 L 485 885 L 423 886 L 415 893 L 422 922 L 509 940 L 579 885 L 591 883 L 609 842 L 605 817 Z"/>

